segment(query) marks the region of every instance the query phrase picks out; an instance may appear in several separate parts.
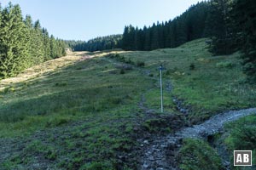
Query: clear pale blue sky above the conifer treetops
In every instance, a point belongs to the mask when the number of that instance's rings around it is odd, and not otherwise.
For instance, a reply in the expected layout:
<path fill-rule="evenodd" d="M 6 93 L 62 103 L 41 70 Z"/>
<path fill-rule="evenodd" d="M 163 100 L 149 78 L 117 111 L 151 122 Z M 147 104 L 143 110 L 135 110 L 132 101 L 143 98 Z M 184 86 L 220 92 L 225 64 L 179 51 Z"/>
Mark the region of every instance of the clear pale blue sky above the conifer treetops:
<path fill-rule="evenodd" d="M 65 40 L 88 41 L 121 34 L 125 26 L 152 26 L 172 20 L 202 0 L 1 0 L 20 4 L 22 14 L 39 20 L 49 34 Z"/>

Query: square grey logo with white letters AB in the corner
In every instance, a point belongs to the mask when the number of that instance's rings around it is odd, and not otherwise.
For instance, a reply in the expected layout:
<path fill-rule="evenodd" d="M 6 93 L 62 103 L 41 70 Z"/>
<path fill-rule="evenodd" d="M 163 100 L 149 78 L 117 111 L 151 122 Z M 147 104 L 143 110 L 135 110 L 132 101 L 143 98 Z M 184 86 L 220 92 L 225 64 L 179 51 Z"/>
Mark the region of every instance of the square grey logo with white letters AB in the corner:
<path fill-rule="evenodd" d="M 252 166 L 252 150 L 234 150 L 234 166 Z"/>

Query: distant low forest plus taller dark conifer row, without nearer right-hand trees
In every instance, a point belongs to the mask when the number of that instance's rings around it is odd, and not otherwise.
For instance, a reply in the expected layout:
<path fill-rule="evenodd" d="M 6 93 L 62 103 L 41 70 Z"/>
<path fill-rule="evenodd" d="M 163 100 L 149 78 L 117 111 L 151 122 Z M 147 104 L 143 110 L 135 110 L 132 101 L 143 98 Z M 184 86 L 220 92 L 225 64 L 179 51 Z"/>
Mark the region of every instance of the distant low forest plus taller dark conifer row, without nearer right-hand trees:
<path fill-rule="evenodd" d="M 207 36 L 204 28 L 208 8 L 208 3 L 198 3 L 174 20 L 165 23 L 158 22 L 153 26 L 144 26 L 143 29 L 125 26 L 123 35 L 97 37 L 88 42 L 67 41 L 67 44 L 75 51 L 97 51 L 113 48 L 125 50 L 174 48 L 183 42 Z M 189 31 L 188 34 L 186 30 Z"/>

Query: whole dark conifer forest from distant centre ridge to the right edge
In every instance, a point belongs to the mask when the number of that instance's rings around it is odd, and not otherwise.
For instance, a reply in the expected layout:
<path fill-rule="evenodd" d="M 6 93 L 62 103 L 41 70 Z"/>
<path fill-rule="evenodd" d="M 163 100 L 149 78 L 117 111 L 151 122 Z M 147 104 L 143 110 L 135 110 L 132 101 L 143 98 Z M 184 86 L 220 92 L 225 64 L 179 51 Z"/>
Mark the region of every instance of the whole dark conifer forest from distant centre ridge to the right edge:
<path fill-rule="evenodd" d="M 249 82 L 256 82 L 256 1 L 209 0 L 192 5 L 180 16 L 142 29 L 125 26 L 122 38 L 101 37 L 79 44 L 79 50 L 153 50 L 175 48 L 184 42 L 210 37 L 212 54 L 241 51 L 241 64 Z M 106 39 L 105 39 L 106 38 Z M 102 42 L 108 46 L 102 46 Z M 112 39 L 112 40 L 111 40 Z M 118 45 L 116 45 L 118 44 Z"/>

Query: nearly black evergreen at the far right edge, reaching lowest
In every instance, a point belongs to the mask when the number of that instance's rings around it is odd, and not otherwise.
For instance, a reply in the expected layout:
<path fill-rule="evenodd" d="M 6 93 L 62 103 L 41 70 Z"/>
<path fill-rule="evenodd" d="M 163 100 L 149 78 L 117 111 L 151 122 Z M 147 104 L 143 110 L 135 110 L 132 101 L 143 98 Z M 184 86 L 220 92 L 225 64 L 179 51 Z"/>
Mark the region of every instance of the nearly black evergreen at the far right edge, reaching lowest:
<path fill-rule="evenodd" d="M 233 33 L 236 42 L 240 42 L 243 71 L 249 82 L 256 83 L 256 2 L 254 0 L 236 0 L 232 10 L 232 19 L 236 20 Z"/>

